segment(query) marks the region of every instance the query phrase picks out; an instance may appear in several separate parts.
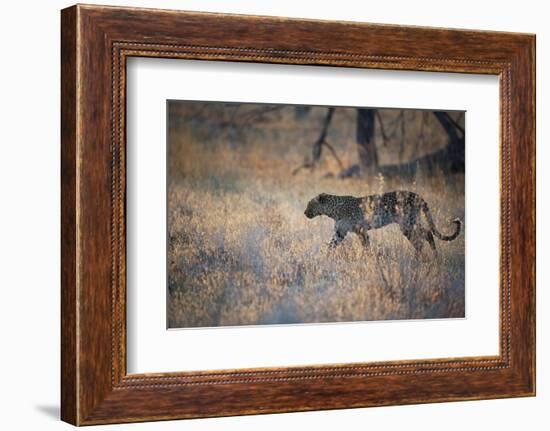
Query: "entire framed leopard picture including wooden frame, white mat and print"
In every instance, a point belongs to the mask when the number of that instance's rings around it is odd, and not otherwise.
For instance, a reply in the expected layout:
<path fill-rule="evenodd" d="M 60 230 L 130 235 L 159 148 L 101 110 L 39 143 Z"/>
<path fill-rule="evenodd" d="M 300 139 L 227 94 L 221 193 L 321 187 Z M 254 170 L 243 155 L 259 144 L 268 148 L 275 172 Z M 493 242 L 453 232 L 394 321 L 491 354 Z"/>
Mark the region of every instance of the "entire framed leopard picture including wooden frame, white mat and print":
<path fill-rule="evenodd" d="M 62 419 L 535 394 L 535 37 L 61 13 Z"/>

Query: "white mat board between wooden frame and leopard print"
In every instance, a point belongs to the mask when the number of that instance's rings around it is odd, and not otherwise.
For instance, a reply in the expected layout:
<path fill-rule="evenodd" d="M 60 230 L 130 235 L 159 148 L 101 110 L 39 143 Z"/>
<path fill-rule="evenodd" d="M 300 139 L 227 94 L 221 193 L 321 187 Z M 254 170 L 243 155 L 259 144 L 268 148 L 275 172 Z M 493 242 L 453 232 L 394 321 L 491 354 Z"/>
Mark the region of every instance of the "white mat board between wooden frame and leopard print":
<path fill-rule="evenodd" d="M 498 354 L 498 77 L 134 58 L 127 83 L 128 372 Z M 167 331 L 167 99 L 467 111 L 466 318 Z"/>

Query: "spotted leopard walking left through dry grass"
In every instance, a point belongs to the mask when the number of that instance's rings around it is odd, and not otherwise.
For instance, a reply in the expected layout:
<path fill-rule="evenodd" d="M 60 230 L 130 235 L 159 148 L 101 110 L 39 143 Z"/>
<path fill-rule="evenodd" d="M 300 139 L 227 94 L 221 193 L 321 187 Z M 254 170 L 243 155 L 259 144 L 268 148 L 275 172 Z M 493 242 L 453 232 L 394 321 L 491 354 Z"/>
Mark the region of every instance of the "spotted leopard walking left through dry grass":
<path fill-rule="evenodd" d="M 422 214 L 427 226 L 421 221 Z M 396 223 L 417 255 L 422 252 L 425 241 L 437 255 L 434 236 L 442 241 L 453 241 L 460 234 L 462 226 L 461 220 L 455 218 L 451 220 L 455 225 L 454 232 L 450 235 L 442 234 L 434 223 L 428 203 L 420 195 L 406 190 L 363 197 L 321 193 L 309 201 L 304 215 L 308 219 L 324 215 L 334 220 L 330 248 L 339 245 L 351 232 L 360 238 L 366 249 L 370 249 L 368 232 Z"/>

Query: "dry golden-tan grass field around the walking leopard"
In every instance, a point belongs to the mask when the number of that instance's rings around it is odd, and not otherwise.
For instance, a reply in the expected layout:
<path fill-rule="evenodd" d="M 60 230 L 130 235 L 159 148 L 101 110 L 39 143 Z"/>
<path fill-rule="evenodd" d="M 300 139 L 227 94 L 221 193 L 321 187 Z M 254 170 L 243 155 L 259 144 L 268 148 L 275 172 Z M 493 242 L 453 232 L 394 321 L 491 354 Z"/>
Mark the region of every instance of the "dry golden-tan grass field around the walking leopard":
<path fill-rule="evenodd" d="M 337 179 L 327 157 L 293 176 L 308 148 L 289 146 L 280 128 L 237 147 L 198 126 L 173 124 L 169 139 L 169 327 L 464 316 L 463 232 L 436 239 L 434 261 L 427 244 L 415 257 L 397 225 L 371 231 L 369 252 L 352 234 L 328 249 L 334 222 L 304 216 L 321 192 L 404 189 L 423 196 L 449 232 L 451 219 L 464 220 L 463 175 Z M 335 145 L 345 163 L 356 157 L 353 145 L 351 137 Z"/>

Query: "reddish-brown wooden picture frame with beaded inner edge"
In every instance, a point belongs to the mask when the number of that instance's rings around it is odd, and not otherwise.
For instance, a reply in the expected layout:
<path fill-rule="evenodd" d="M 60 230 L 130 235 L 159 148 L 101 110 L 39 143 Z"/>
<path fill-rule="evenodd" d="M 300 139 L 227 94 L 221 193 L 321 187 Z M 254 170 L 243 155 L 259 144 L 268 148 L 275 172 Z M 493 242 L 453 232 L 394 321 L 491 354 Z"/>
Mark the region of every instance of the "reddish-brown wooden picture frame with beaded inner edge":
<path fill-rule="evenodd" d="M 61 17 L 64 421 L 90 425 L 535 394 L 534 35 L 83 5 L 64 9 Z M 498 75 L 500 354 L 128 375 L 130 56 Z"/>

